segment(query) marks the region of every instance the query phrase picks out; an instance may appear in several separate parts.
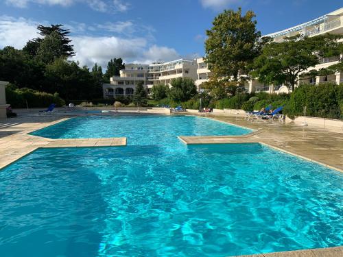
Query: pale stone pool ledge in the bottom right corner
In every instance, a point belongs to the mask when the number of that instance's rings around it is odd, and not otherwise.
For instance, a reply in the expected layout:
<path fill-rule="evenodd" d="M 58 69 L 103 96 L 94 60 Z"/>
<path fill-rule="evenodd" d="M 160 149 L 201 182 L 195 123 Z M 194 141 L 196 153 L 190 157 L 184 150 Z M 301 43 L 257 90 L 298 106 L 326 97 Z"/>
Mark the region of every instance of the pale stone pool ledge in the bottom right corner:
<path fill-rule="evenodd" d="M 289 252 L 274 252 L 270 254 L 253 254 L 233 257 L 340 257 L 343 256 L 343 247 L 329 247 L 320 249 L 306 249 Z"/>

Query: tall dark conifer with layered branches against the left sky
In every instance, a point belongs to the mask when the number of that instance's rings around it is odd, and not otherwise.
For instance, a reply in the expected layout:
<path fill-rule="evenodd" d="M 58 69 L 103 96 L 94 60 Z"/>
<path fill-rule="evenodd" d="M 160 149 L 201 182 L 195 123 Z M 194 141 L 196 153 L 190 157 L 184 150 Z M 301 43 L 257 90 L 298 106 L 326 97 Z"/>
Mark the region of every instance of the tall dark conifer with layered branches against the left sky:
<path fill-rule="evenodd" d="M 58 34 L 62 42 L 61 56 L 75 56 L 73 45 L 70 45 L 71 39 L 69 38 L 69 29 L 63 29 L 63 25 L 61 24 L 51 24 L 50 26 L 38 25 L 37 29 L 40 31 L 39 34 L 44 38 L 53 33 Z M 42 40 L 42 38 L 34 38 L 33 42 L 38 42 L 40 44 Z"/>

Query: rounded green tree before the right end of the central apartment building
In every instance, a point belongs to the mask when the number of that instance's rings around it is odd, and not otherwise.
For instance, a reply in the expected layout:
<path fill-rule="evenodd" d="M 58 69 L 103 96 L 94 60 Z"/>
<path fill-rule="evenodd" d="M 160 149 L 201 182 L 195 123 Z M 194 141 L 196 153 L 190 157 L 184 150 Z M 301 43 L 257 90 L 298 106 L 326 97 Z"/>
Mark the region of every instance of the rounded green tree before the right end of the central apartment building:
<path fill-rule="evenodd" d="M 169 98 L 174 101 L 188 101 L 197 93 L 193 79 L 189 77 L 178 77 L 171 79 Z"/>

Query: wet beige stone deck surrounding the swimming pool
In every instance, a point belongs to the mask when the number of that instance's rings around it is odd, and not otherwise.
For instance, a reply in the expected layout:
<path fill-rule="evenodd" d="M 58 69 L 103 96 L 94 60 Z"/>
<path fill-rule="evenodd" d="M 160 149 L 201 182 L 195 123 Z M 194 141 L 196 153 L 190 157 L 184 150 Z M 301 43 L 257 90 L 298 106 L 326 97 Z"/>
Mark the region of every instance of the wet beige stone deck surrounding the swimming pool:
<path fill-rule="evenodd" d="M 140 112 L 145 114 L 147 112 Z M 125 115 L 127 113 L 123 113 Z M 84 115 L 82 115 L 84 116 Z M 202 115 L 203 116 L 203 115 Z M 343 134 L 329 132 L 277 121 L 245 121 L 244 117 L 209 115 L 209 118 L 240 125 L 255 130 L 244 136 L 182 136 L 187 144 L 207 143 L 262 143 L 307 160 L 343 172 Z M 28 133 L 69 119 L 67 116 L 19 115 L 15 119 L 0 119 L 0 169 L 40 147 L 102 147 L 124 146 L 126 138 L 49 139 Z M 256 254 L 255 257 L 335 257 L 343 256 L 343 247 L 306 249 L 271 254 Z"/>

